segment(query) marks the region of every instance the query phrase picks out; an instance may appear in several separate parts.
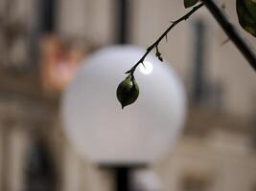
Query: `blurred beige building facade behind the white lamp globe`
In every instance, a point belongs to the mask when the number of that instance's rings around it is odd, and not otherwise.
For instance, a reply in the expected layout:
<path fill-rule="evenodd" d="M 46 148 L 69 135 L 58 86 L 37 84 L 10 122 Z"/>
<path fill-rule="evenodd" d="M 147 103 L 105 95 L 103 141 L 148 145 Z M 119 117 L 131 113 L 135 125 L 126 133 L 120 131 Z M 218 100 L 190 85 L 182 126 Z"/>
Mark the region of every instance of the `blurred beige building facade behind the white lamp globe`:
<path fill-rule="evenodd" d="M 235 1 L 222 3 L 237 24 Z M 180 0 L 1 0 L 0 190 L 111 190 L 112 174 L 65 138 L 61 92 L 90 53 L 146 49 L 185 12 Z M 201 9 L 159 47 L 189 97 L 182 138 L 151 166 L 163 190 L 256 190 L 256 75 L 226 39 Z"/>

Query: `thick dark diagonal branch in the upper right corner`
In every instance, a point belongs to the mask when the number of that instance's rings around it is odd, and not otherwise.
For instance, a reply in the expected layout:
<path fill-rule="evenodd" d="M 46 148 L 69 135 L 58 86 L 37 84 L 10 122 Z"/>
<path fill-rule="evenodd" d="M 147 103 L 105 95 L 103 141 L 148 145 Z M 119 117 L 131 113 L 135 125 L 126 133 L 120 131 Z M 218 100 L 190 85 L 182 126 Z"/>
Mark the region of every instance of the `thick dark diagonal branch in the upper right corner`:
<path fill-rule="evenodd" d="M 213 17 L 220 24 L 222 30 L 226 33 L 229 39 L 236 45 L 238 50 L 244 55 L 244 58 L 248 61 L 250 66 L 256 72 L 256 53 L 250 47 L 242 35 L 236 30 L 236 28 L 228 21 L 227 16 L 216 4 L 214 0 L 201 0 L 206 8 L 212 13 Z"/>

